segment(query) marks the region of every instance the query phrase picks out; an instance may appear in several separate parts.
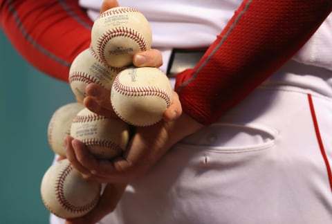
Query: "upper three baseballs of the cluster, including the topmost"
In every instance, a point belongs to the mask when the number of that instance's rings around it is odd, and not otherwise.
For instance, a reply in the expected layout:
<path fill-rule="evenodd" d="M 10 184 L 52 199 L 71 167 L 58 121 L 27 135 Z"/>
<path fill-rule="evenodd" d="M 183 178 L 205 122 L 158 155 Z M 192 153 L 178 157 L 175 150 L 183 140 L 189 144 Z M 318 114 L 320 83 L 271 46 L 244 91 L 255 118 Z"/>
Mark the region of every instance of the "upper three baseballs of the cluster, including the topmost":
<path fill-rule="evenodd" d="M 69 83 L 78 100 L 91 82 L 111 91 L 111 105 L 124 122 L 149 126 L 172 102 L 172 86 L 158 68 L 135 68 L 133 55 L 151 48 L 149 22 L 134 8 L 103 12 L 91 30 L 91 46 L 71 65 Z"/>

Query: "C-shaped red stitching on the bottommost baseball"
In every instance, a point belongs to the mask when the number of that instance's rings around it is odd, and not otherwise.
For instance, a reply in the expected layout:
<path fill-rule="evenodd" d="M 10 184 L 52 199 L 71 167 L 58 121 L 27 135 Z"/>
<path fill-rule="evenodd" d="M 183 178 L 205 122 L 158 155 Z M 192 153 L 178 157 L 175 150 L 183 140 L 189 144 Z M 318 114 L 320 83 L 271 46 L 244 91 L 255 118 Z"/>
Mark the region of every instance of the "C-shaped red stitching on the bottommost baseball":
<path fill-rule="evenodd" d="M 68 200 L 66 200 L 66 196 L 64 195 L 64 181 L 66 180 L 66 177 L 68 174 L 73 171 L 73 166 L 71 164 L 68 164 L 64 169 L 60 172 L 59 177 L 57 178 L 57 184 L 55 185 L 55 194 L 57 194 L 57 200 L 59 200 L 59 203 L 68 209 L 70 212 L 73 213 L 82 213 L 86 212 L 91 207 L 94 207 L 99 200 L 99 195 L 93 198 L 91 202 L 87 203 L 83 206 L 76 206 L 72 205 Z"/>

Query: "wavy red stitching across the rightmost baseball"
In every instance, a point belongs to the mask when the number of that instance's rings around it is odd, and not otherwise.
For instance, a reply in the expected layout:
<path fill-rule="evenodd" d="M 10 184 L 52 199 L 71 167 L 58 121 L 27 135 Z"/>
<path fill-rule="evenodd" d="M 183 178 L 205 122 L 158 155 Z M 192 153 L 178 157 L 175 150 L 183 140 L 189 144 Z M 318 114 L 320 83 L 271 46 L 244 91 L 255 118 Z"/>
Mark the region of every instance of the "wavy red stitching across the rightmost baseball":
<path fill-rule="evenodd" d="M 166 91 L 163 89 L 147 86 L 147 87 L 131 87 L 124 86 L 124 84 L 120 83 L 119 75 L 116 76 L 116 79 L 113 82 L 113 88 L 118 91 L 118 93 L 126 96 L 158 96 L 161 99 L 165 100 L 167 107 L 171 105 L 171 99 Z"/>

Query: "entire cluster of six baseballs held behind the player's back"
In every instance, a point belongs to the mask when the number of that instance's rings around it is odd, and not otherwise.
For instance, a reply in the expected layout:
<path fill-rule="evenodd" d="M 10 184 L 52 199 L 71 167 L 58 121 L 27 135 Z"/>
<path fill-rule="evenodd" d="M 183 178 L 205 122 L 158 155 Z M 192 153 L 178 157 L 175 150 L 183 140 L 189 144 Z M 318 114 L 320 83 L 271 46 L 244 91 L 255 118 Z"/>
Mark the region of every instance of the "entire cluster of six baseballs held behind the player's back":
<path fill-rule="evenodd" d="M 118 7 L 103 12 L 91 30 L 91 46 L 75 57 L 69 84 L 79 102 L 91 82 L 111 91 L 118 118 L 106 118 L 83 104 L 66 104 L 48 124 L 50 148 L 66 157 L 64 137 L 71 135 L 86 144 L 99 159 L 112 159 L 129 143 L 129 127 L 149 126 L 161 120 L 172 102 L 172 87 L 158 68 L 135 68 L 133 55 L 151 48 L 151 28 L 141 12 Z M 85 180 L 65 158 L 55 162 L 41 184 L 46 208 L 62 218 L 83 216 L 95 207 L 100 183 Z"/>

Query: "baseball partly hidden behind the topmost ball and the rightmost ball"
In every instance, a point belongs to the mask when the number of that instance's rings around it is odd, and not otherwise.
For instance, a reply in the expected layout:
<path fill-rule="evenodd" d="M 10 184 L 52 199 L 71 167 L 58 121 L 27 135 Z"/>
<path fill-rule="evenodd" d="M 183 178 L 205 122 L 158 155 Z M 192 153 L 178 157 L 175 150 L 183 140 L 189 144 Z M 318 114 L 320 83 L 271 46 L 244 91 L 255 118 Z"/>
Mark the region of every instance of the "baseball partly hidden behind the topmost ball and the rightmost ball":
<path fill-rule="evenodd" d="M 88 84 L 94 82 L 111 90 L 113 80 L 121 70 L 105 64 L 92 48 L 87 48 L 73 60 L 68 81 L 77 100 L 82 101 Z"/>

